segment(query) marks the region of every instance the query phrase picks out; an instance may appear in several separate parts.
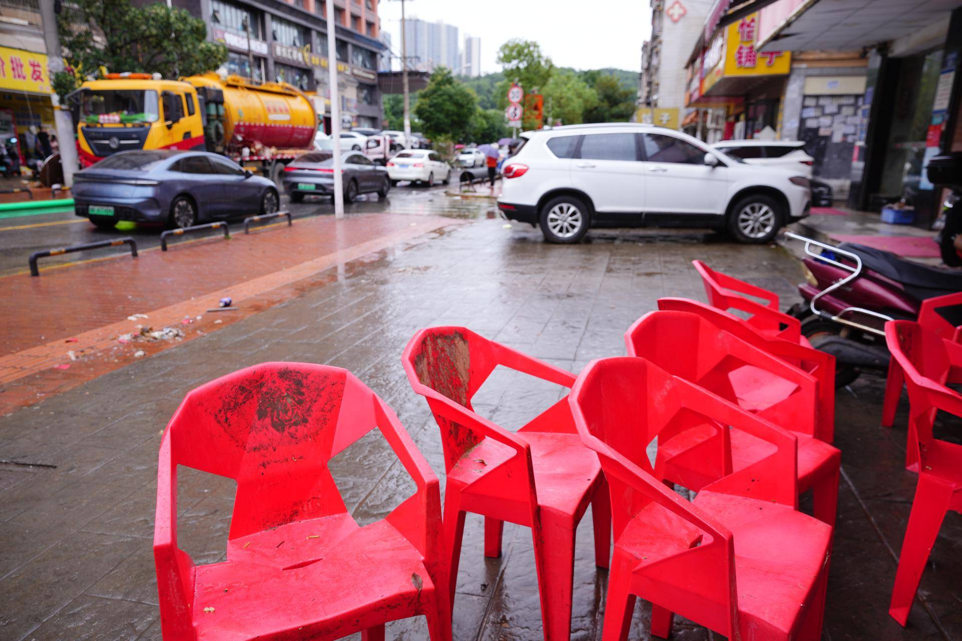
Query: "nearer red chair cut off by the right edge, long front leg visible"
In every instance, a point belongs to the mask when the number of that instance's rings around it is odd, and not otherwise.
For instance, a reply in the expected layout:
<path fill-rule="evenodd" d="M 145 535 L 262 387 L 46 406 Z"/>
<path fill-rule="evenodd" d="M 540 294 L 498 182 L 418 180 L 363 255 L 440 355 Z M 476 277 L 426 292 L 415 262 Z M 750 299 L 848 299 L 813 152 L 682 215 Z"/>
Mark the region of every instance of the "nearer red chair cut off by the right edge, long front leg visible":
<path fill-rule="evenodd" d="M 946 512 L 962 512 L 962 445 L 932 436 L 937 410 L 962 417 L 962 395 L 945 386 L 952 369 L 962 365 L 962 345 L 911 321 L 886 323 L 885 340 L 905 374 L 908 457 L 919 473 L 889 606 L 904 626 Z"/>

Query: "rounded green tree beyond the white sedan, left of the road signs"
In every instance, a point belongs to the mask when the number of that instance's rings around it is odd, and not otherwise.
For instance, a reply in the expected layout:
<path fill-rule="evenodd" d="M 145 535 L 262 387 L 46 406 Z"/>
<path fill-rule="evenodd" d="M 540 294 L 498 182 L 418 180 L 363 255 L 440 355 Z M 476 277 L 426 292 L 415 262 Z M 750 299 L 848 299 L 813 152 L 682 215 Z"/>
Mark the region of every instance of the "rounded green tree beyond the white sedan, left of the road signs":
<path fill-rule="evenodd" d="M 474 92 L 458 82 L 447 67 L 438 67 L 418 93 L 415 115 L 432 140 L 461 140 L 469 135 L 477 109 Z"/>

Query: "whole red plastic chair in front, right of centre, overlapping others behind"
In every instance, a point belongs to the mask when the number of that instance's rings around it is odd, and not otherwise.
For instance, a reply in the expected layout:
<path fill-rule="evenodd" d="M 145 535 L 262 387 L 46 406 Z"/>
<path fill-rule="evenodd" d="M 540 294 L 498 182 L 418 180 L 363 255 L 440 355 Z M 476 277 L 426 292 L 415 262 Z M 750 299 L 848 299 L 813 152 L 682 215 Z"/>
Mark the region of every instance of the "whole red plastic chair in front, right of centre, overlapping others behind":
<path fill-rule="evenodd" d="M 796 510 L 795 434 L 643 358 L 595 360 L 570 399 L 611 488 L 604 641 L 627 639 L 636 596 L 651 602 L 657 636 L 669 636 L 678 613 L 729 639 L 820 638 L 832 529 Z M 689 503 L 662 483 L 661 444 L 697 423 L 749 432 L 771 453 Z"/>

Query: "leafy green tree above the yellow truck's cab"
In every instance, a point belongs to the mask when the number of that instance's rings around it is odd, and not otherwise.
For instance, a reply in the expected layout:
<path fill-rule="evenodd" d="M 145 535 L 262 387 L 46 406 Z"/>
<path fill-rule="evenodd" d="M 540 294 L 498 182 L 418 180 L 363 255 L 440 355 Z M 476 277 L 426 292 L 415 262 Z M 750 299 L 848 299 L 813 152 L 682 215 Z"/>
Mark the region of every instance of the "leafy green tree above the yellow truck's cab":
<path fill-rule="evenodd" d="M 134 7 L 130 0 L 72 0 L 63 3 L 57 26 L 70 67 L 54 79 L 59 93 L 101 68 L 172 79 L 213 71 L 227 61 L 227 48 L 207 40 L 203 20 L 161 2 Z"/>

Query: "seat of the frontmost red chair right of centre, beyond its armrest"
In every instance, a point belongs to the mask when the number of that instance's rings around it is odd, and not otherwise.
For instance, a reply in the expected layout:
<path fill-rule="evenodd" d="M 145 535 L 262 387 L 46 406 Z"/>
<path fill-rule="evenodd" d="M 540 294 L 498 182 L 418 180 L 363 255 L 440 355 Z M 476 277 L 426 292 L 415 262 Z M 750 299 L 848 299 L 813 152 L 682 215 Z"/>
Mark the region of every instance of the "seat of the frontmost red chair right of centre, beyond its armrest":
<path fill-rule="evenodd" d="M 815 587 L 828 560 L 831 527 L 769 501 L 704 491 L 694 504 L 734 537 L 743 638 L 769 637 L 763 629 L 791 638 L 789 632 L 820 596 Z"/>

